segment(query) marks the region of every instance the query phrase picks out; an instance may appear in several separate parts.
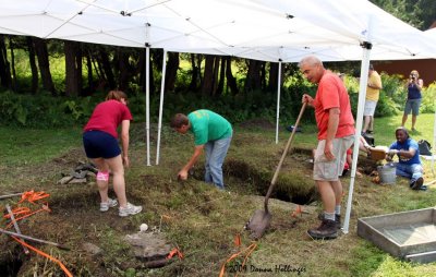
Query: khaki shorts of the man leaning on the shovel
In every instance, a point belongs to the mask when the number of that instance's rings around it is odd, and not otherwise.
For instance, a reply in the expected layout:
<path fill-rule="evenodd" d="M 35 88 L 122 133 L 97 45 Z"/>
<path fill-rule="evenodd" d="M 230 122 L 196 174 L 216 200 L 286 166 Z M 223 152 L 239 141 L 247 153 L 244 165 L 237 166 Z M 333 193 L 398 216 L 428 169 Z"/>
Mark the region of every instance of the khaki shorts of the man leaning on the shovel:
<path fill-rule="evenodd" d="M 319 141 L 315 150 L 314 172 L 315 181 L 338 181 L 342 174 L 343 165 L 346 164 L 347 149 L 354 143 L 354 135 L 349 135 L 334 140 L 334 160 L 327 160 L 324 155 L 326 141 Z"/>

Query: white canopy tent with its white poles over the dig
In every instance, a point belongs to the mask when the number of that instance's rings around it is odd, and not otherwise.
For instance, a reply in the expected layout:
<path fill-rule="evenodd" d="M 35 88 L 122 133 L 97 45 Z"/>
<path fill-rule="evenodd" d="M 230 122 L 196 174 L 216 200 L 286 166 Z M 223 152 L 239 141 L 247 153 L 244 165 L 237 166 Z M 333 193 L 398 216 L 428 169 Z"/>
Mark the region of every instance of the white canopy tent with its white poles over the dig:
<path fill-rule="evenodd" d="M 376 60 L 415 59 L 428 58 L 436 52 L 422 32 L 365 0 L 17 0 L 13 3 L 0 0 L 0 33 L 146 47 L 147 55 L 149 48 L 230 55 L 279 62 L 280 65 L 307 55 L 316 55 L 324 61 L 362 60 L 356 134 L 362 129 L 370 57 Z M 148 85 L 146 97 L 149 165 Z M 162 99 L 164 86 L 161 106 Z M 277 122 L 278 118 L 277 110 Z M 161 110 L 158 146 L 160 124 Z"/>

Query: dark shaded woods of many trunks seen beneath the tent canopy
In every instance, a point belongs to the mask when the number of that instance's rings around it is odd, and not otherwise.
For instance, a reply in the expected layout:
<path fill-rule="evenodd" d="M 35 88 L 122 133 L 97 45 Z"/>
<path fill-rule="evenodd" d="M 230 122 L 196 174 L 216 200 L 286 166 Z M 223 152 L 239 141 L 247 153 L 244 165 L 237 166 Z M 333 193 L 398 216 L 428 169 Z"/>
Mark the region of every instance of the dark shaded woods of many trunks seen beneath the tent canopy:
<path fill-rule="evenodd" d="M 145 91 L 145 49 L 7 35 L 0 36 L 0 84 L 16 93 L 46 91 L 52 96 L 87 96 L 98 89 Z M 55 57 L 64 60 L 64 81 L 52 77 L 50 60 Z M 150 50 L 152 94 L 160 87 L 162 57 L 164 50 Z M 23 77 L 28 72 L 19 71 L 19 59 L 28 64 L 25 69 L 31 69 L 29 80 Z M 235 74 L 240 76 L 237 79 Z M 168 92 L 203 96 L 237 95 L 255 89 L 275 91 L 277 76 L 277 64 L 263 61 L 169 52 L 165 87 Z M 64 86 L 57 86 L 58 83 Z"/>

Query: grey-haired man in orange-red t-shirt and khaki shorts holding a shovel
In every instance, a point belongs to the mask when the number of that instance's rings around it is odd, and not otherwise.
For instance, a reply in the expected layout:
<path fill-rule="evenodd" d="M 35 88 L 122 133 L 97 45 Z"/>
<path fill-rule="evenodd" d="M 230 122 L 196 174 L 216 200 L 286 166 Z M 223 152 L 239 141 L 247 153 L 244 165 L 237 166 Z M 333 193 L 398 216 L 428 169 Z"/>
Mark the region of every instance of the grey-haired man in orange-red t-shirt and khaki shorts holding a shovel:
<path fill-rule="evenodd" d="M 319 191 L 324 218 L 318 228 L 307 230 L 313 239 L 335 239 L 340 228 L 342 174 L 347 149 L 354 142 L 354 119 L 350 98 L 337 74 L 323 62 L 308 56 L 300 61 L 300 71 L 311 83 L 318 84 L 315 99 L 303 95 L 303 103 L 315 108 L 318 146 L 314 158 L 314 180 Z"/>

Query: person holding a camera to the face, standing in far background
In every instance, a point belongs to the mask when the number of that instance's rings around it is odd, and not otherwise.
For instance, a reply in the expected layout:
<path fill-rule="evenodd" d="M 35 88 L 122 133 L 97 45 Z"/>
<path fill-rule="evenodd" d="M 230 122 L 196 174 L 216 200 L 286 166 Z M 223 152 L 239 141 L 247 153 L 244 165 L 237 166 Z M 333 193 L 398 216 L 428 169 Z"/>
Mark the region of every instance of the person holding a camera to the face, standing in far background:
<path fill-rule="evenodd" d="M 408 100 L 405 101 L 404 115 L 402 116 L 401 127 L 404 127 L 408 121 L 408 116 L 412 112 L 412 131 L 415 130 L 416 117 L 420 113 L 420 106 L 422 99 L 422 88 L 424 81 L 420 79 L 420 73 L 416 70 L 410 72 L 410 79 L 408 81 Z"/>

